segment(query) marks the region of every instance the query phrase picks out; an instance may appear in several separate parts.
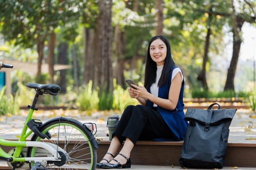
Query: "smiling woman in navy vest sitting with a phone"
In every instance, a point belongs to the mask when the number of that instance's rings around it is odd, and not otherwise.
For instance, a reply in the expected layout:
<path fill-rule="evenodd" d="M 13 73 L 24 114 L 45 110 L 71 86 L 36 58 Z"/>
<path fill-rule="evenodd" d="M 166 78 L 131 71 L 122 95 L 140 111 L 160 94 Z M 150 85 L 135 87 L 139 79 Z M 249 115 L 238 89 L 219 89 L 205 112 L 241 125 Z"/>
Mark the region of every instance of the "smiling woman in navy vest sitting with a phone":
<path fill-rule="evenodd" d="M 187 121 L 183 119 L 183 73 L 175 66 L 169 41 L 163 36 L 154 36 L 149 41 L 144 80 L 144 86 L 128 87 L 130 97 L 140 104 L 124 109 L 109 149 L 97 168 L 131 168 L 130 154 L 138 140 L 184 139 Z"/>

